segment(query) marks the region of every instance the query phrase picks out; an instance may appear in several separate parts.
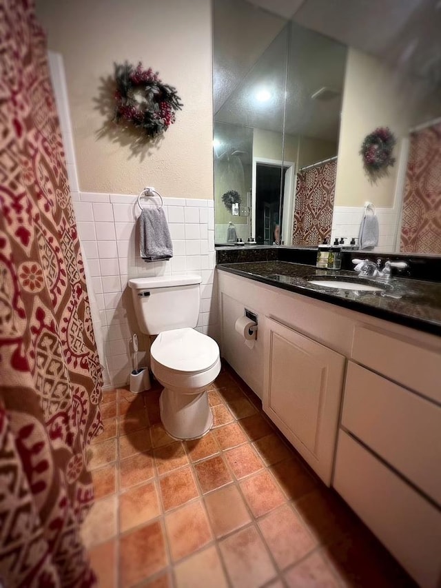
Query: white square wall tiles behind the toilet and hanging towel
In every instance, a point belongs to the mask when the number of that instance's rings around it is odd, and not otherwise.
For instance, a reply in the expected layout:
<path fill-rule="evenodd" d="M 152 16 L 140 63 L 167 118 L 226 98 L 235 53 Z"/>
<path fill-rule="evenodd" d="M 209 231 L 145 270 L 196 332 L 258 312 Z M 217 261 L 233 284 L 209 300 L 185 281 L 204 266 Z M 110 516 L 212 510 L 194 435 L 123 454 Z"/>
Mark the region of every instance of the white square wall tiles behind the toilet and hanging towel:
<path fill-rule="evenodd" d="M 101 336 L 105 343 L 110 381 L 124 385 L 132 369 L 130 338 L 141 332 L 136 323 L 130 278 L 201 275 L 201 308 L 196 329 L 218 338 L 216 301 L 213 296 L 214 208 L 212 200 L 164 198 L 174 256 L 169 261 L 146 263 L 139 255 L 136 220 L 141 210 L 137 196 L 79 192 L 74 210 L 79 236 L 85 253 L 97 305 L 100 310 Z M 97 334 L 96 336 L 99 336 Z M 148 339 L 140 336 L 147 362 Z"/>

